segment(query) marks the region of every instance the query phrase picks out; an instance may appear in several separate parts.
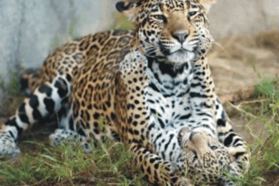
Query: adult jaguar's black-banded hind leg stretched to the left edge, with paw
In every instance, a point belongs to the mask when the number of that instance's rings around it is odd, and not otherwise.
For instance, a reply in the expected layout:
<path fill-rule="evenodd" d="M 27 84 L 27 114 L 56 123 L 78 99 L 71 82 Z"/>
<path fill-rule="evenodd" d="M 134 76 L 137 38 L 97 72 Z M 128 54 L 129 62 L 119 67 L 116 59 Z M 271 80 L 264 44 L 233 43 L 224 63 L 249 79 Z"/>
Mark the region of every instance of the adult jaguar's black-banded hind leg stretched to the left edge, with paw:
<path fill-rule="evenodd" d="M 16 141 L 22 131 L 45 117 L 57 113 L 70 94 L 70 82 L 58 76 L 44 83 L 24 99 L 15 115 L 10 117 L 0 129 L 0 155 L 17 155 L 20 150 Z"/>

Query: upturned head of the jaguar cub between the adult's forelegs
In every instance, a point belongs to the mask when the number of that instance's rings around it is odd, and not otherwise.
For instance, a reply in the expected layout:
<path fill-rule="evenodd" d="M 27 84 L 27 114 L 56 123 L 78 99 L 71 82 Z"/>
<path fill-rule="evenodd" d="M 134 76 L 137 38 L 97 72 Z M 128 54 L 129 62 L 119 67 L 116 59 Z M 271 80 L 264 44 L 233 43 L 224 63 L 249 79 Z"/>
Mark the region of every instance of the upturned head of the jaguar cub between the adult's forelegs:
<path fill-rule="evenodd" d="M 195 185 L 219 183 L 234 162 L 235 148 L 227 148 L 204 129 L 183 127 L 179 141 L 183 150 L 181 166 Z"/>

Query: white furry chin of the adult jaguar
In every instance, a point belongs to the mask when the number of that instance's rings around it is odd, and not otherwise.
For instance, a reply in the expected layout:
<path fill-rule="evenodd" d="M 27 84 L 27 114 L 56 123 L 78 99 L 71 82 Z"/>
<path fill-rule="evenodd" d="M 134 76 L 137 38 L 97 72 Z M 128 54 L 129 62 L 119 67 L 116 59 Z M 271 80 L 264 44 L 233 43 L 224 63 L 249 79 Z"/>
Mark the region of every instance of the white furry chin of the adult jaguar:
<path fill-rule="evenodd" d="M 195 52 L 188 50 L 179 50 L 170 55 L 167 55 L 167 60 L 174 64 L 184 64 L 188 62 L 193 62 L 195 60 Z"/>

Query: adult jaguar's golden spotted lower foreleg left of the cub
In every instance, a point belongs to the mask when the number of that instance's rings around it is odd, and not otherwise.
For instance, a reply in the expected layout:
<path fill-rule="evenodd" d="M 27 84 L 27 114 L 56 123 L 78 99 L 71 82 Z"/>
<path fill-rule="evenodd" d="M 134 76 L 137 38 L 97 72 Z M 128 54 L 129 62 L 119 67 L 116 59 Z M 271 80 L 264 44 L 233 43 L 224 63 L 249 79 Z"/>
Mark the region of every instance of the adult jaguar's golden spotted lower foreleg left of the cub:
<path fill-rule="evenodd" d="M 176 164 L 165 161 L 136 143 L 131 146 L 131 151 L 137 169 L 144 173 L 144 178 L 149 183 L 153 185 L 190 185 Z"/>

